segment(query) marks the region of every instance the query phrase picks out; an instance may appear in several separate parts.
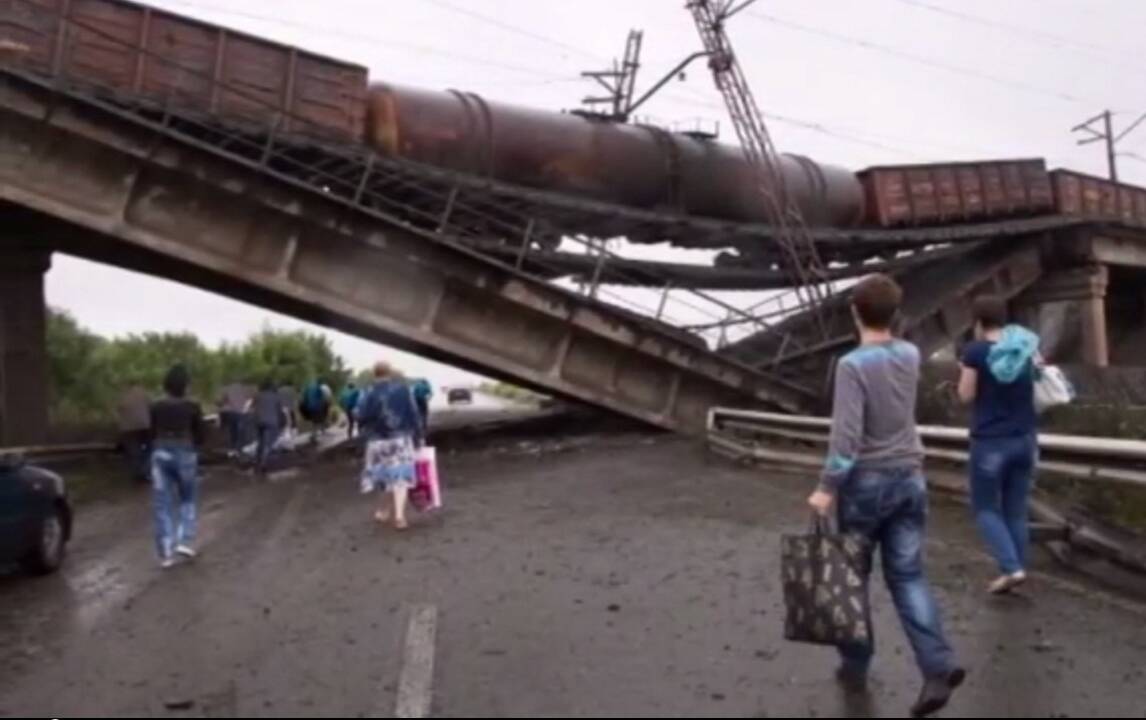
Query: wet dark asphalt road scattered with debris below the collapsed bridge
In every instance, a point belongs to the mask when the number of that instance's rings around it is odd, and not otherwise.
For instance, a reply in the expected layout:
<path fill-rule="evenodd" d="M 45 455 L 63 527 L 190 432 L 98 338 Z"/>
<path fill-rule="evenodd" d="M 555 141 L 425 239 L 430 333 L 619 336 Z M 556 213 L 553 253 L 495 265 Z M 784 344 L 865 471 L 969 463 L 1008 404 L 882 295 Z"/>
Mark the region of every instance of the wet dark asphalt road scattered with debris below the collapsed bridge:
<path fill-rule="evenodd" d="M 448 509 L 376 527 L 350 463 L 215 472 L 204 553 L 162 573 L 146 494 L 83 509 L 55 578 L 0 578 L 0 714 L 390 717 L 409 608 L 437 610 L 435 717 L 904 717 L 886 594 L 869 702 L 782 640 L 778 538 L 809 479 L 669 437 L 442 459 Z M 929 564 L 971 678 L 950 717 L 1146 717 L 1146 608 L 1041 574 L 988 600 L 958 506 Z"/>

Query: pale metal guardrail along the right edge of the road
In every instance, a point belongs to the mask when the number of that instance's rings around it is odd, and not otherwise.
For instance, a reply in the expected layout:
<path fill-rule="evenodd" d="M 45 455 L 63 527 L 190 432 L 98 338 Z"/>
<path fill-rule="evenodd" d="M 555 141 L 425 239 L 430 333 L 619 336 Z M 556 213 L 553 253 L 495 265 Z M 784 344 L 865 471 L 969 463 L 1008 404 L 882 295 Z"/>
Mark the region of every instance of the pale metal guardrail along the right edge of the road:
<path fill-rule="evenodd" d="M 778 449 L 777 440 L 826 445 L 831 421 L 826 417 L 784 415 L 712 408 L 708 412 L 709 446 L 722 454 L 819 467 L 822 455 Z M 921 425 L 925 453 L 935 460 L 960 464 L 970 461 L 971 438 L 961 428 Z M 1038 469 L 1081 480 L 1101 480 L 1146 487 L 1146 441 L 1117 438 L 1039 433 Z"/>

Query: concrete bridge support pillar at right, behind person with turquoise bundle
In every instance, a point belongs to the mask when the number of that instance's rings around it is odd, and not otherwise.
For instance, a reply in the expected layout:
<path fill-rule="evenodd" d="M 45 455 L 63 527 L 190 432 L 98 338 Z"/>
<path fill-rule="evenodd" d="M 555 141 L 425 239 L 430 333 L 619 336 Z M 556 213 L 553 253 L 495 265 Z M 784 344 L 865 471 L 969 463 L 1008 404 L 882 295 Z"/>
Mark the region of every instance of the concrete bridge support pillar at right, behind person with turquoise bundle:
<path fill-rule="evenodd" d="M 1052 361 L 1107 367 L 1108 285 L 1105 265 L 1052 273 L 1020 296 L 1019 316 L 1043 338 L 1043 351 Z"/>

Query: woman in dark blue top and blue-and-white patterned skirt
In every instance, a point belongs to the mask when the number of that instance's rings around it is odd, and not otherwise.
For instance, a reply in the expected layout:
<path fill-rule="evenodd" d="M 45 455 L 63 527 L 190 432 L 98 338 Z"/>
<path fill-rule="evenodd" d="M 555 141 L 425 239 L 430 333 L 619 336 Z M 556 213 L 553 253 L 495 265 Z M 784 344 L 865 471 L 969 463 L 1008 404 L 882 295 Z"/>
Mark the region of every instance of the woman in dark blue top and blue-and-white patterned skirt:
<path fill-rule="evenodd" d="M 364 492 L 385 492 L 375 519 L 393 521 L 406 530 L 406 503 L 415 484 L 415 438 L 422 432 L 422 417 L 409 385 L 385 362 L 374 368 L 375 384 L 358 407 L 359 424 L 366 435 L 366 462 L 362 470 Z"/>

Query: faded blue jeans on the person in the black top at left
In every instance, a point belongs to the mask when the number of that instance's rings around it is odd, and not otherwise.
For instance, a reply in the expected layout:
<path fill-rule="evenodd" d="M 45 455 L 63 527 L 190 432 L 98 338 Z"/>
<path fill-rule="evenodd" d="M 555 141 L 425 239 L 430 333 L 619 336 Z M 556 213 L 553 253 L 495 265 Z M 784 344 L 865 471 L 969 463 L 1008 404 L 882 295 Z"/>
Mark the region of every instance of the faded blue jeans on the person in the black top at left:
<path fill-rule="evenodd" d="M 198 530 L 198 454 L 189 447 L 158 446 L 151 453 L 155 546 L 162 559 L 195 542 Z"/>

